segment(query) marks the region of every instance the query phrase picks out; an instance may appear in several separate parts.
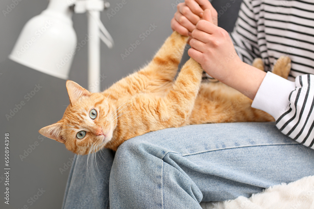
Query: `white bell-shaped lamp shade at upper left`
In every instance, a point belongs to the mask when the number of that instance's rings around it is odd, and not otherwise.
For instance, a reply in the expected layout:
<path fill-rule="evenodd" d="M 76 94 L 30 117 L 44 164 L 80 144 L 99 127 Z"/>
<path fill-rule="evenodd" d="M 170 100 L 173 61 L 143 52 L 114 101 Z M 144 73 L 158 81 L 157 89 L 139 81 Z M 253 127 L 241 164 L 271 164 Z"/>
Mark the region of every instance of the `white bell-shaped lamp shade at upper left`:
<path fill-rule="evenodd" d="M 9 58 L 51 76 L 68 79 L 77 38 L 70 15 L 64 12 L 68 5 L 62 3 L 63 11 L 56 9 L 60 2 L 51 0 L 50 7 L 25 24 Z"/>

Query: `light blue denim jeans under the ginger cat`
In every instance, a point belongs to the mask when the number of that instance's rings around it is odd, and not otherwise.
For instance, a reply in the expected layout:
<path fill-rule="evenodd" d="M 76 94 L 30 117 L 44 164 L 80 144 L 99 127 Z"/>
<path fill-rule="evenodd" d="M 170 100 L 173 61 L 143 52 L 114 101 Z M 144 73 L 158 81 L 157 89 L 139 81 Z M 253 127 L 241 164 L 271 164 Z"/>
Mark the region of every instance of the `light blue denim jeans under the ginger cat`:
<path fill-rule="evenodd" d="M 284 136 L 274 123 L 167 128 L 127 140 L 115 156 L 103 150 L 95 159 L 99 171 L 90 160 L 86 166 L 87 156 L 75 156 L 64 209 L 201 208 L 200 201 L 249 197 L 314 175 L 314 150 Z"/>

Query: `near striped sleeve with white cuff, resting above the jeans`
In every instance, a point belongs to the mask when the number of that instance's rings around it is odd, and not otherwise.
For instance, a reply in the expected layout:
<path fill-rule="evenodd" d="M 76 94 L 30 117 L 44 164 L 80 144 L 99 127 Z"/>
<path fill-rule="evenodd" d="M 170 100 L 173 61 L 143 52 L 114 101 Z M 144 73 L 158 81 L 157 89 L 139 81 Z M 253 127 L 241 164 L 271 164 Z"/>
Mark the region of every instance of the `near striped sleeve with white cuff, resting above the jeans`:
<path fill-rule="evenodd" d="M 271 114 L 282 133 L 314 149 L 314 75 L 297 76 L 292 82 L 268 72 L 252 107 Z"/>

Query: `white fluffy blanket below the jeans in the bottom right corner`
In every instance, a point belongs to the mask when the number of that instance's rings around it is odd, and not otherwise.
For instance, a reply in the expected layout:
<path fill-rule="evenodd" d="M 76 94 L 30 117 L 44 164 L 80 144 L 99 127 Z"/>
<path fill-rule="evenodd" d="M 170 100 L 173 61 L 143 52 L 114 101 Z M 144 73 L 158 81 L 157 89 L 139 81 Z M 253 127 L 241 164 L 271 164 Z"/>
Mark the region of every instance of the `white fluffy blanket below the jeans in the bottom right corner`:
<path fill-rule="evenodd" d="M 201 206 L 203 209 L 314 209 L 314 176 L 269 187 L 250 198 L 201 202 Z"/>

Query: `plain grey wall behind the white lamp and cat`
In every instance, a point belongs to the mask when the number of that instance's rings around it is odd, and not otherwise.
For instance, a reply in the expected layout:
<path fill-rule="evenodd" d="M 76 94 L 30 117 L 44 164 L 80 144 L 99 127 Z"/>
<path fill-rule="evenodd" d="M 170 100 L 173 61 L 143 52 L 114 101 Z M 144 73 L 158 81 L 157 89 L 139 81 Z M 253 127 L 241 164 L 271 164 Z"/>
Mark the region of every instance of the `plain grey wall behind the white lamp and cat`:
<path fill-rule="evenodd" d="M 17 0 L 16 0 L 17 1 Z M 181 0 L 183 1 L 183 0 Z M 111 8 L 121 0 L 110 0 Z M 101 45 L 101 74 L 106 76 L 101 82 L 105 89 L 126 74 L 133 72 L 145 64 L 158 50 L 165 38 L 171 34 L 170 20 L 176 11 L 175 4 L 179 0 L 140 1 L 127 0 L 119 12 L 110 19 L 102 12 L 101 20 L 115 40 L 115 48 L 107 49 Z M 234 2 L 234 3 L 233 3 Z M 241 0 L 217 0 L 213 5 L 221 10 L 220 26 L 232 29 L 234 15 Z M 231 7 L 223 11 L 221 6 L 230 3 Z M 0 208 L 55 209 L 60 208 L 63 192 L 70 168 L 61 173 L 60 168 L 71 164 L 73 154 L 64 145 L 51 139 L 43 139 L 38 130 L 57 122 L 63 115 L 65 106 L 69 104 L 65 80 L 48 76 L 23 65 L 19 65 L 7 57 L 10 54 L 23 25 L 33 16 L 41 13 L 48 2 L 43 0 L 19 0 L 18 5 L 6 16 L 3 10 L 12 4 L 12 0 L 0 1 Z M 87 34 L 85 14 L 73 15 L 74 29 L 78 42 Z M 139 35 L 149 29 L 150 24 L 157 28 L 129 55 L 122 60 L 121 53 L 129 44 L 139 39 Z M 185 56 L 187 59 L 187 56 Z M 70 80 L 87 88 L 87 45 L 77 51 L 71 68 Z M 42 86 L 32 98 L 27 96 L 35 85 Z M 26 95 L 26 97 L 25 97 Z M 12 118 L 5 117 L 10 110 L 24 101 L 25 105 Z M 10 205 L 4 204 L 4 134 L 10 134 Z M 36 146 L 37 145 L 37 146 Z M 35 148 L 35 149 L 34 149 Z M 25 153 L 25 150 L 29 153 Z M 25 158 L 21 159 L 25 153 Z M 45 192 L 35 201 L 30 197 L 37 194 L 38 189 Z M 32 205 L 31 205 L 32 204 Z"/>

